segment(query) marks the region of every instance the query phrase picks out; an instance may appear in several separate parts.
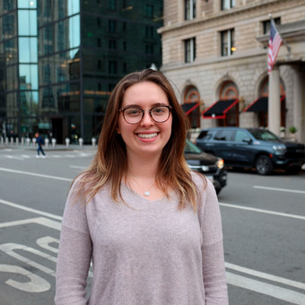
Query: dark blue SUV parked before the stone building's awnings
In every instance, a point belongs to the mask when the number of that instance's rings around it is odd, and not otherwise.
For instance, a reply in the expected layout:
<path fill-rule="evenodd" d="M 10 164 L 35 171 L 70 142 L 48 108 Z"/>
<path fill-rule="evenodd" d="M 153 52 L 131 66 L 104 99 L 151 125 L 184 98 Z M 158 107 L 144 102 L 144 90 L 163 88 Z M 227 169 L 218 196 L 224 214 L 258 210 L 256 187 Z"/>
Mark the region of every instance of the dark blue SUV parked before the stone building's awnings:
<path fill-rule="evenodd" d="M 304 144 L 284 142 L 261 128 L 207 128 L 198 135 L 196 144 L 221 157 L 227 166 L 255 168 L 260 175 L 274 169 L 298 173 L 305 162 Z"/>

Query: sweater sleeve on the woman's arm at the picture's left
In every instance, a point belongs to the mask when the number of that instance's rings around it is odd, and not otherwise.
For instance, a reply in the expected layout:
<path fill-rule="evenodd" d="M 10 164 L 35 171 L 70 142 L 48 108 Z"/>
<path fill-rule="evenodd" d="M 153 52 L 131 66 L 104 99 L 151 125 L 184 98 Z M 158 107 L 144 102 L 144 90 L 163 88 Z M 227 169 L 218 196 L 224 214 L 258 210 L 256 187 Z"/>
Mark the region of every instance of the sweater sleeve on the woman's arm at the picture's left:
<path fill-rule="evenodd" d="M 57 305 L 87 304 L 85 288 L 91 258 L 92 240 L 86 204 L 75 200 L 72 187 L 65 204 L 57 256 Z"/>

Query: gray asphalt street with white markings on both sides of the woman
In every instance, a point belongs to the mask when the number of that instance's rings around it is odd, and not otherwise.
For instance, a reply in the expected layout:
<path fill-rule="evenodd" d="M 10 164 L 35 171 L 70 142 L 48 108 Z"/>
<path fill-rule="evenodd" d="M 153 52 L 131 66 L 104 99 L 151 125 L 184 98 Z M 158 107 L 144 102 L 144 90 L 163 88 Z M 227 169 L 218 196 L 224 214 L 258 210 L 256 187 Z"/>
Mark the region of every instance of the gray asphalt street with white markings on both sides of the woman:
<path fill-rule="evenodd" d="M 54 304 L 68 187 L 93 148 L 0 147 L 1 305 Z M 229 171 L 219 196 L 231 305 L 305 304 L 305 171 Z M 164 304 L 165 305 L 165 304 Z"/>

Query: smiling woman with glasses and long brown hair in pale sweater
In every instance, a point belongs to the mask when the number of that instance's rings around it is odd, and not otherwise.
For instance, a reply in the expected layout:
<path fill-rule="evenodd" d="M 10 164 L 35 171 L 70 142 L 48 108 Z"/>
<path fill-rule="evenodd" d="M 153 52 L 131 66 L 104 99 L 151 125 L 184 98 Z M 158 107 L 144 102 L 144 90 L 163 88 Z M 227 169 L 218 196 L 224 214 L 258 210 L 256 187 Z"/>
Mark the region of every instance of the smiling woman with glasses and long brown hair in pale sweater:
<path fill-rule="evenodd" d="M 161 72 L 118 82 L 97 153 L 66 201 L 57 305 L 228 304 L 217 196 L 187 167 L 186 137 L 184 112 Z"/>

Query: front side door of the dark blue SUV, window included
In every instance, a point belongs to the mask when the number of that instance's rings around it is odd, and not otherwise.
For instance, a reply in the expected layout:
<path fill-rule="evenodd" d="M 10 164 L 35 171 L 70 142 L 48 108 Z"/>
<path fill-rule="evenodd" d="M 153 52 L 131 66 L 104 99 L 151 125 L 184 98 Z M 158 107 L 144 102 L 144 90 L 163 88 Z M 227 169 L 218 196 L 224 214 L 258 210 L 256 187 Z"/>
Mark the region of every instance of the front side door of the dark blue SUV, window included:
<path fill-rule="evenodd" d="M 233 164 L 252 165 L 255 159 L 255 149 L 253 141 L 247 130 L 236 130 L 234 134 L 234 144 L 231 146 Z"/>

